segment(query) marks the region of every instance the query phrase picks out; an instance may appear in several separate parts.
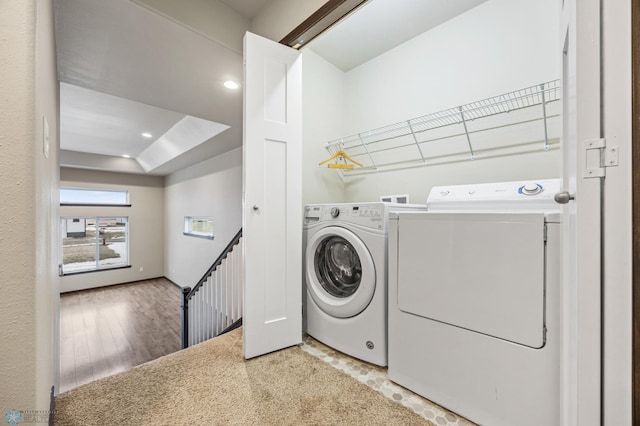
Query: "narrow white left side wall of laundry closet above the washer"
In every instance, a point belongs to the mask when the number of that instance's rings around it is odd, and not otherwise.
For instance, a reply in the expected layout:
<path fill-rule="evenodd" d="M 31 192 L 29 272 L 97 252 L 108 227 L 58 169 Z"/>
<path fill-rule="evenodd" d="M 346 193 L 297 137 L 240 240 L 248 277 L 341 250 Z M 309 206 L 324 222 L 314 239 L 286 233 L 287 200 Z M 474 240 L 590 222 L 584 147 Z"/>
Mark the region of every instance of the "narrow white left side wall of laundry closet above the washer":
<path fill-rule="evenodd" d="M 302 203 L 344 200 L 342 176 L 318 163 L 329 153 L 324 141 L 343 136 L 344 73 L 310 49 L 302 52 Z"/>

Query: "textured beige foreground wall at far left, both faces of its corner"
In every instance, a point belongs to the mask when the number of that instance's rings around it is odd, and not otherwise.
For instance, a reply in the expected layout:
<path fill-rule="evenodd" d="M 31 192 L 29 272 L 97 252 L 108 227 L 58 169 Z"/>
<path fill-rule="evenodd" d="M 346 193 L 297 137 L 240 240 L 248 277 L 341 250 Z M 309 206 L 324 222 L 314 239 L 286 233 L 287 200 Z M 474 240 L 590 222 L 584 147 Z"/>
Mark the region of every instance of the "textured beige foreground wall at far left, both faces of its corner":
<path fill-rule="evenodd" d="M 48 410 L 56 381 L 58 92 L 50 0 L 0 2 L 0 412 Z M 49 155 L 43 152 L 43 117 Z"/>

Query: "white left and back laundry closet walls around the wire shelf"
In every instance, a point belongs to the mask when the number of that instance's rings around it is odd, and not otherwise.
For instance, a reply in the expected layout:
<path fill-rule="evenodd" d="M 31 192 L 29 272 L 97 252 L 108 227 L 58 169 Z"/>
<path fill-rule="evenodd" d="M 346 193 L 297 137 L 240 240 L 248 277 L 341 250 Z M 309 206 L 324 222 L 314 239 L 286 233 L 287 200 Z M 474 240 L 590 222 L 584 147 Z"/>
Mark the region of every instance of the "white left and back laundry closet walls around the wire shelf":
<path fill-rule="evenodd" d="M 330 58 L 331 50 L 323 45 L 325 37 L 331 42 L 333 31 L 344 33 L 338 26 L 309 43 L 303 50 L 303 201 L 377 201 L 382 194 L 408 193 L 412 202 L 421 203 L 434 185 L 558 177 L 558 125 L 550 135 L 555 139 L 551 149 L 541 144 L 539 151 L 525 154 L 358 176 L 317 164 L 330 155 L 327 141 L 558 79 L 559 1 L 469 0 L 462 13 L 348 69 Z M 349 25 L 358 14 L 364 17 L 366 8 L 383 8 L 384 3 L 398 8 L 424 7 L 427 2 L 373 0 L 339 25 Z M 446 8 L 451 2 L 428 3 Z M 423 19 L 418 12 L 413 15 L 407 12 L 394 25 L 412 26 L 412 19 Z M 393 31 L 381 25 L 371 22 L 369 27 L 392 38 Z M 369 36 L 371 43 L 374 38 Z M 354 55 L 362 49 L 355 35 L 343 43 Z M 508 121 L 509 114 L 503 115 Z M 541 139 L 543 129 L 539 132 L 531 135 L 532 141 Z M 512 136 L 505 132 L 499 137 L 508 141 Z"/>

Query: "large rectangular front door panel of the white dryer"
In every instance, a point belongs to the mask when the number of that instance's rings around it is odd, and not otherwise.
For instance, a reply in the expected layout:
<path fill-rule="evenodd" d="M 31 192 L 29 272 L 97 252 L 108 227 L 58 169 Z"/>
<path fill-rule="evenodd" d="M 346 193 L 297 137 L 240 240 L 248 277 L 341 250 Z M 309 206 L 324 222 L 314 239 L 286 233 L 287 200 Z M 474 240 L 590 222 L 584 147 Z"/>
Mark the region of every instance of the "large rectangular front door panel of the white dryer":
<path fill-rule="evenodd" d="M 399 213 L 398 308 L 540 348 L 542 213 Z"/>

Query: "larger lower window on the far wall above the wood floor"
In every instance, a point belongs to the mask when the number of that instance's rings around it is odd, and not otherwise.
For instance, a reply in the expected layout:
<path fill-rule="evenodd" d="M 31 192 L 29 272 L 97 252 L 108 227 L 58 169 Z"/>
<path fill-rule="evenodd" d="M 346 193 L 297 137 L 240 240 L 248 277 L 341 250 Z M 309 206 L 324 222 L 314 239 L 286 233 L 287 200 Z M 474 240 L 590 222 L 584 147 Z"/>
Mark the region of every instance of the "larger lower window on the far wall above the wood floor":
<path fill-rule="evenodd" d="M 62 217 L 61 275 L 129 266 L 127 217 Z"/>

